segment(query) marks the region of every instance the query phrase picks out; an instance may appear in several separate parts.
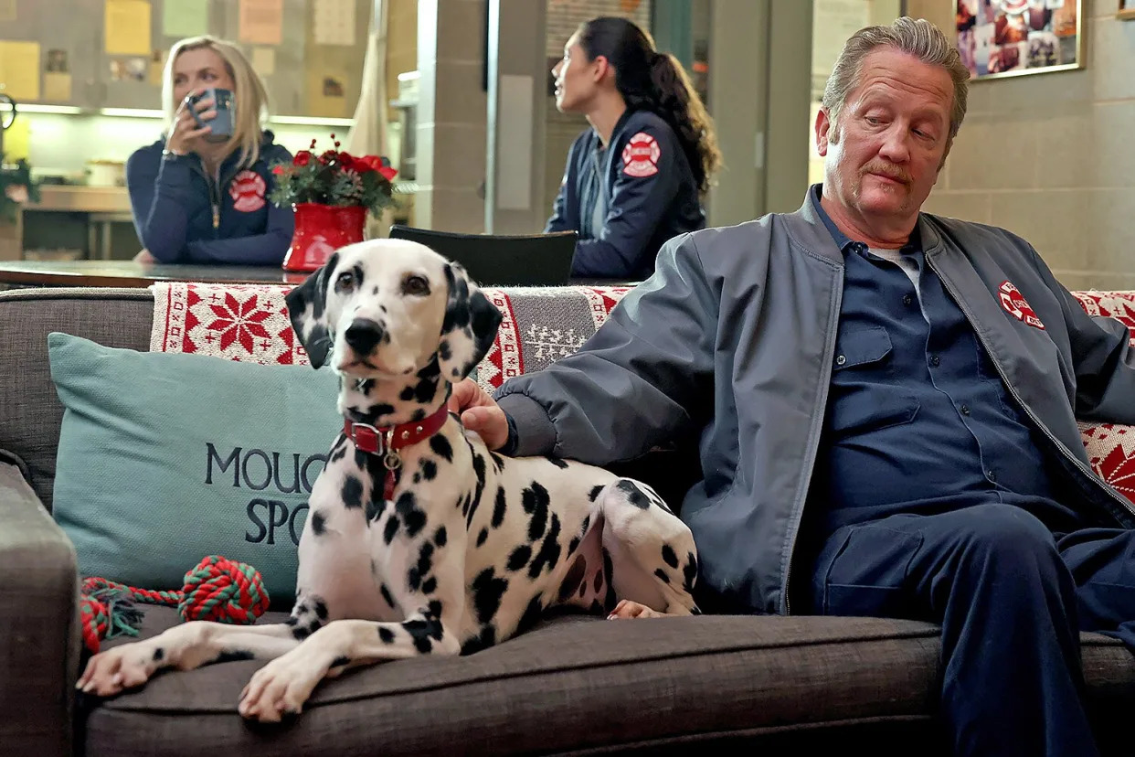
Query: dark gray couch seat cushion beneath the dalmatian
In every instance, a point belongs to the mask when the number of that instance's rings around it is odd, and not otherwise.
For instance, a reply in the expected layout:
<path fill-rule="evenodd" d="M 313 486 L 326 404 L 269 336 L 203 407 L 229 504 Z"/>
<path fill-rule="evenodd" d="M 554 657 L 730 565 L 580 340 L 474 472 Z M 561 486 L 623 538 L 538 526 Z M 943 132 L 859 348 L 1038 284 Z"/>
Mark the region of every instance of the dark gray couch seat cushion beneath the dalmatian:
<path fill-rule="evenodd" d="M 176 620 L 171 609 L 148 609 L 144 636 Z M 1092 697 L 1129 692 L 1130 654 L 1096 634 L 1083 644 Z M 916 724 L 930 748 L 938 654 L 938 626 L 914 621 L 566 615 L 468 657 L 348 671 L 277 727 L 236 714 L 260 662 L 165 672 L 94 705 L 86 754 L 506 755 L 774 743 L 869 724 Z"/>

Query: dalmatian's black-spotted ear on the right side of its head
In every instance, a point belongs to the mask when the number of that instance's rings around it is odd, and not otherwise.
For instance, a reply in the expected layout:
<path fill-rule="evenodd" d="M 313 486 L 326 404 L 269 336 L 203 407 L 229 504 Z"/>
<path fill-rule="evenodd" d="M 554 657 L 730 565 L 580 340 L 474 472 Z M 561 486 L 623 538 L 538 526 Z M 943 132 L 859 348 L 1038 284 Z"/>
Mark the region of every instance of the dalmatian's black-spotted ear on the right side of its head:
<path fill-rule="evenodd" d="M 449 285 L 449 298 L 437 345 L 437 362 L 442 378 L 456 384 L 469 376 L 493 346 L 503 317 L 459 263 L 445 267 L 445 280 Z"/>

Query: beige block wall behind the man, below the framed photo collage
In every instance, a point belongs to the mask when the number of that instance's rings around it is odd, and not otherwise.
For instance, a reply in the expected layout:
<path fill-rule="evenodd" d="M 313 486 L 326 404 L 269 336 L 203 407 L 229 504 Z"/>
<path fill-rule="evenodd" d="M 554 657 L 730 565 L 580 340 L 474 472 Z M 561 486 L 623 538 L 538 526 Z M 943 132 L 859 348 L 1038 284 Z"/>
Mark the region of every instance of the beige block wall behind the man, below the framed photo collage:
<path fill-rule="evenodd" d="M 1084 0 L 1086 68 L 974 82 L 927 210 L 1028 239 L 1069 288 L 1135 289 L 1135 22 Z M 952 30 L 953 0 L 910 0 Z"/>

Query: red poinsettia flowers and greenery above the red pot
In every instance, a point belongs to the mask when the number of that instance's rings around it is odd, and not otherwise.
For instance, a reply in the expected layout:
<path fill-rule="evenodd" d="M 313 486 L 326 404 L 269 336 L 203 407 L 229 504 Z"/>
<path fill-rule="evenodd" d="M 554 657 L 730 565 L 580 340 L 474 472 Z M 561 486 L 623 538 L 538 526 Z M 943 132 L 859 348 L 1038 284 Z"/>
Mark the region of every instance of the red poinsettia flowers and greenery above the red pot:
<path fill-rule="evenodd" d="M 335 135 L 331 135 L 335 140 Z M 300 150 L 291 161 L 272 165 L 276 187 L 269 197 L 280 208 L 301 202 L 322 205 L 362 205 L 377 215 L 394 204 L 392 179 L 398 171 L 380 155 L 355 157 L 335 148 L 316 152 L 316 140 L 309 150 Z"/>

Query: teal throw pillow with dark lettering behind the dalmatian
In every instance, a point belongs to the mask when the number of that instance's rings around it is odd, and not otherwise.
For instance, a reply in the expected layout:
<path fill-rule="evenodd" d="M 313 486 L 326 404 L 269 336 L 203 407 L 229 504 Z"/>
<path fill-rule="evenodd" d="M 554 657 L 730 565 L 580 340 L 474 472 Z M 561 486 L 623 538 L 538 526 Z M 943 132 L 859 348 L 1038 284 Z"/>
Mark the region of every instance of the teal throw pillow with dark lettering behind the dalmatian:
<path fill-rule="evenodd" d="M 179 590 L 219 554 L 291 606 L 308 496 L 342 430 L 335 373 L 59 333 L 48 352 L 65 406 L 53 514 L 81 574 Z"/>

